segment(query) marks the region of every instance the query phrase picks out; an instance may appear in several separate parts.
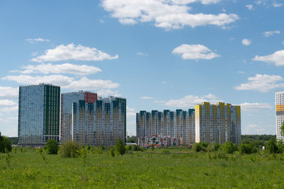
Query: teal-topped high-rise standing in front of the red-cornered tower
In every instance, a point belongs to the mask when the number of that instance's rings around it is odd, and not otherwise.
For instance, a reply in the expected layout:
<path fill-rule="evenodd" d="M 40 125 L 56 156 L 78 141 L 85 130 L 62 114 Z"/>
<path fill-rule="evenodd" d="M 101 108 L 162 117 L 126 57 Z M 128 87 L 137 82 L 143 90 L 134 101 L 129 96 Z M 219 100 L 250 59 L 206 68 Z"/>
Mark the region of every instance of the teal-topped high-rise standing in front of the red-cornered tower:
<path fill-rule="evenodd" d="M 126 140 L 126 99 L 109 96 L 72 105 L 72 141 L 111 146 Z"/>

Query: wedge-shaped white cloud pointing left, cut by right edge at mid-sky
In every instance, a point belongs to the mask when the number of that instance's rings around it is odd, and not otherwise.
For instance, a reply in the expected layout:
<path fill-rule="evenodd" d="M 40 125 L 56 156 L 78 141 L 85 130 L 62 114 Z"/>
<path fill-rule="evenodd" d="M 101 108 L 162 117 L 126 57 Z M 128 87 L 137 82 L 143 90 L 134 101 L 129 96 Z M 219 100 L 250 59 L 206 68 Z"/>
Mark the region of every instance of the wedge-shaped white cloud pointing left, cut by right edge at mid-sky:
<path fill-rule="evenodd" d="M 275 64 L 275 66 L 284 66 L 284 50 L 278 50 L 266 56 L 256 55 L 252 60 Z"/>

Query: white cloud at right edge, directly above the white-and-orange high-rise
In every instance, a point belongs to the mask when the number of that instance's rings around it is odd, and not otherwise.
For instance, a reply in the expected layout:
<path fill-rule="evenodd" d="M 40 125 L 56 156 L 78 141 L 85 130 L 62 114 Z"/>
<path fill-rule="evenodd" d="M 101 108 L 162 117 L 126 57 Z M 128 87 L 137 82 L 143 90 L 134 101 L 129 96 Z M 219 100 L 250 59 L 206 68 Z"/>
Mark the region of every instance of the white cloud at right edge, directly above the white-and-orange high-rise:
<path fill-rule="evenodd" d="M 267 75 L 267 74 L 256 74 L 256 76 L 249 77 L 246 84 L 236 86 L 236 90 L 247 90 L 247 91 L 261 91 L 266 93 L 274 88 L 284 88 L 282 76 L 278 75 Z"/>

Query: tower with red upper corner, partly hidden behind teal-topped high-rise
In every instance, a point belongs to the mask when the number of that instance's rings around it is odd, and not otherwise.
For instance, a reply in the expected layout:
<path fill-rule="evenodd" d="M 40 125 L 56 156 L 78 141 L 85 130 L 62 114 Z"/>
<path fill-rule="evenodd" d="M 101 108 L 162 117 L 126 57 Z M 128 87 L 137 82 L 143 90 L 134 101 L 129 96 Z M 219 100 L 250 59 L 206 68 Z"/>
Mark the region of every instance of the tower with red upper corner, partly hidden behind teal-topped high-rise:
<path fill-rule="evenodd" d="M 78 101 L 94 103 L 97 101 L 97 93 L 89 91 L 78 91 L 61 94 L 61 120 L 60 120 L 60 141 L 72 140 L 72 105 Z"/>

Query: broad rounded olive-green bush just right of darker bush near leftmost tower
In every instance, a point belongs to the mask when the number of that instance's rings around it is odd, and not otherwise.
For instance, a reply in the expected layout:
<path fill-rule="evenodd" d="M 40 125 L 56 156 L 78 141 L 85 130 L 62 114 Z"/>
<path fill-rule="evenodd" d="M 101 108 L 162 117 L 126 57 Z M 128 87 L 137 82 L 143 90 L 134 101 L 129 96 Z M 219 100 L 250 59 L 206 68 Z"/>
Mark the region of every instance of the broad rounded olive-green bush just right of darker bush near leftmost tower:
<path fill-rule="evenodd" d="M 60 145 L 58 154 L 65 158 L 74 158 L 77 157 L 77 151 L 80 151 L 80 149 L 80 144 L 77 142 L 66 141 Z"/>

